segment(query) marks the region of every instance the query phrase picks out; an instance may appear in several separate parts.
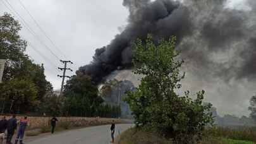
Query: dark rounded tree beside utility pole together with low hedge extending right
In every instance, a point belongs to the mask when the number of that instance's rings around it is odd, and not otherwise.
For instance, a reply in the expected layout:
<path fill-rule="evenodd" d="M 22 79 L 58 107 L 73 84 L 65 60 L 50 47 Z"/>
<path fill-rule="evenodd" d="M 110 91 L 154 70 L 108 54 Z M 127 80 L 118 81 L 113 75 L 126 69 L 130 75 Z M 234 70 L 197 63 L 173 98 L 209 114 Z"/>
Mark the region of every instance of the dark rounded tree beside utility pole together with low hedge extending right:
<path fill-rule="evenodd" d="M 64 89 L 64 114 L 68 116 L 119 117 L 121 107 L 103 104 L 97 86 L 90 76 L 77 73 L 67 81 Z"/>

